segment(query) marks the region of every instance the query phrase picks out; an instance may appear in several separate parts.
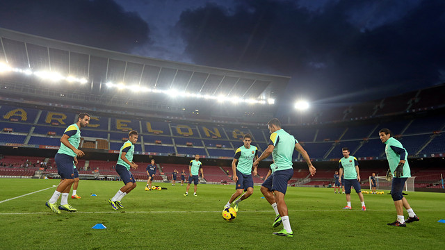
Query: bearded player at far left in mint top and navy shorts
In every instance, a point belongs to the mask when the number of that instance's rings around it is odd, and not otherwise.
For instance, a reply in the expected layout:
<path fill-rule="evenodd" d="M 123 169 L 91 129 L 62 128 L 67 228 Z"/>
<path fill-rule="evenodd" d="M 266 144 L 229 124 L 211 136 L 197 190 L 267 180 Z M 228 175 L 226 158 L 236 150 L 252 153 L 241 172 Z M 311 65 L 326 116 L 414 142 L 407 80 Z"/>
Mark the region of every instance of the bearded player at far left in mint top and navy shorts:
<path fill-rule="evenodd" d="M 70 194 L 71 185 L 74 183 L 74 165 L 77 164 L 77 157 L 85 155 L 83 151 L 79 150 L 81 143 L 81 128 L 86 127 L 90 123 L 90 115 L 81 113 L 77 117 L 77 122 L 65 129 L 65 132 L 60 138 L 60 148 L 58 149 L 54 161 L 57 165 L 57 173 L 60 175 L 61 181 L 57 186 L 56 191 L 51 196 L 46 205 L 54 213 L 60 213 L 60 210 L 69 212 L 76 212 L 77 209 L 68 204 L 68 195 Z M 56 206 L 58 197 L 62 194 L 60 199 L 60 206 Z"/>

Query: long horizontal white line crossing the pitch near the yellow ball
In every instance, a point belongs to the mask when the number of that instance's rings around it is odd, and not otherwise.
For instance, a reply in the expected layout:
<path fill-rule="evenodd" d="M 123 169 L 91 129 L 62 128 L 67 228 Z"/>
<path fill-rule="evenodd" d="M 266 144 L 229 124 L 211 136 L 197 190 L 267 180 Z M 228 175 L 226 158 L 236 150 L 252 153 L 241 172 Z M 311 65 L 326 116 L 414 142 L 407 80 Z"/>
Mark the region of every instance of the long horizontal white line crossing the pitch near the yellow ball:
<path fill-rule="evenodd" d="M 289 210 L 289 212 L 342 212 L 344 210 Z M 366 211 L 394 211 L 394 209 L 366 209 Z M 444 212 L 445 210 L 437 210 L 437 209 L 417 209 L 416 211 L 426 211 L 426 212 L 432 212 L 432 211 L 439 211 Z M 350 212 L 362 212 L 362 210 L 348 210 L 344 213 L 350 213 Z M 221 213 L 221 211 L 97 211 L 97 212 L 76 212 L 81 214 L 93 214 L 93 213 Z M 243 213 L 273 213 L 273 210 L 264 210 L 264 211 L 243 211 Z M 0 213 L 0 215 L 39 215 L 39 214 L 52 214 L 51 212 L 43 213 L 43 212 L 36 212 L 36 213 Z M 67 213 L 68 214 L 68 213 Z M 69 213 L 74 214 L 74 213 Z"/>

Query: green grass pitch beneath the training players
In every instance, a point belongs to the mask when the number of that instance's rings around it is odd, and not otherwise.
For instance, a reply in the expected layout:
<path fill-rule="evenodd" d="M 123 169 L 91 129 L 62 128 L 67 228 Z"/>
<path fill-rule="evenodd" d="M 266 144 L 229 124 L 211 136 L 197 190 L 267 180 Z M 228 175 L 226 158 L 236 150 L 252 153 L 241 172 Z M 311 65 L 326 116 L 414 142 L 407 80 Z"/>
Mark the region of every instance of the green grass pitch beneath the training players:
<path fill-rule="evenodd" d="M 0 201 L 57 185 L 58 180 L 0 178 Z M 272 235 L 275 213 L 259 187 L 242 201 L 233 222 L 221 216 L 234 185 L 186 186 L 160 183 L 168 190 L 145 191 L 145 183 L 128 194 L 124 210 L 112 210 L 108 199 L 123 185 L 117 181 L 80 181 L 82 199 L 69 203 L 79 212 L 51 213 L 44 203 L 55 188 L 0 203 L 0 235 L 7 249 L 444 249 L 445 194 L 409 192 L 421 221 L 406 228 L 387 226 L 396 220 L 391 196 L 364 194 L 366 211 L 351 194 L 332 188 L 288 188 L 286 203 L 294 237 Z M 156 183 L 158 185 L 158 183 Z M 91 197 L 90 194 L 97 194 Z M 60 203 L 60 199 L 58 201 Z M 405 217 L 407 213 L 405 212 Z M 97 223 L 103 230 L 91 229 Z"/>

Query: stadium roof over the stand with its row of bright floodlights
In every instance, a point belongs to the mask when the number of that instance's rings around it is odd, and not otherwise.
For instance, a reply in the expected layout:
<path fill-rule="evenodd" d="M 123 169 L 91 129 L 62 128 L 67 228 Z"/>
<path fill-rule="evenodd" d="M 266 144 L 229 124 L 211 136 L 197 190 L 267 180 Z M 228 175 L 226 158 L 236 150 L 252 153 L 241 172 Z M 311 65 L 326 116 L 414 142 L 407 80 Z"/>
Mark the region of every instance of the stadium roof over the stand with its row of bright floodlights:
<path fill-rule="evenodd" d="M 79 90 L 99 96 L 112 96 L 118 91 L 110 90 L 110 86 L 138 86 L 145 90 L 267 100 L 280 96 L 290 79 L 133 56 L 5 28 L 0 28 L 0 39 L 0 63 L 32 72 L 83 78 L 87 84 L 79 86 Z M 59 86 L 64 88 L 63 84 Z"/>

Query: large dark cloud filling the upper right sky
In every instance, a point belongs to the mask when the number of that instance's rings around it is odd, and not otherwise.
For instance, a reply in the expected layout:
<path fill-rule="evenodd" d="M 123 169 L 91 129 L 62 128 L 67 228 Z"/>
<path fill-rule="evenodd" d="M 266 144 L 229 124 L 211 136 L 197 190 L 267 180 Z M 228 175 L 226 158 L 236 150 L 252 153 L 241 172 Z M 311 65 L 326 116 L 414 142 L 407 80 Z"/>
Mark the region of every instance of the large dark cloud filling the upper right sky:
<path fill-rule="evenodd" d="M 289 75 L 289 90 L 315 98 L 388 85 L 407 92 L 440 81 L 445 2 L 412 0 L 402 9 L 398 1 L 373 2 L 306 8 L 245 0 L 231 12 L 207 4 L 184 11 L 177 27 L 194 63 Z"/>

